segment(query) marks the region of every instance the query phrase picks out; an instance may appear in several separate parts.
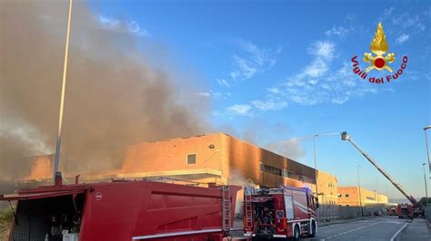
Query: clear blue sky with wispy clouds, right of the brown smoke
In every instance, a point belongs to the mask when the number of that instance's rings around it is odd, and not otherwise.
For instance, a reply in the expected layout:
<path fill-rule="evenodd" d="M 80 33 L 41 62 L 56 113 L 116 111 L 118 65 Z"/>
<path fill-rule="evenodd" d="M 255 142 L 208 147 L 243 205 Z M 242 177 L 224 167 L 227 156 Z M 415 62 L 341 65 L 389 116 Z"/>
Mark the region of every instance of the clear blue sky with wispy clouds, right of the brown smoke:
<path fill-rule="evenodd" d="M 424 196 L 424 131 L 431 124 L 431 8 L 426 1 L 95 1 L 107 27 L 125 21 L 142 54 L 163 46 L 179 71 L 198 76 L 196 100 L 212 103 L 214 130 L 255 142 L 313 165 L 313 133 L 347 130 L 416 197 Z M 390 66 L 406 71 L 376 84 L 362 69 L 378 22 Z M 388 72 L 371 71 L 382 76 Z M 286 140 L 290 140 L 287 141 Z M 401 195 L 338 136 L 317 139 L 318 168 L 339 185 L 356 185 L 361 165 L 365 188 Z"/>

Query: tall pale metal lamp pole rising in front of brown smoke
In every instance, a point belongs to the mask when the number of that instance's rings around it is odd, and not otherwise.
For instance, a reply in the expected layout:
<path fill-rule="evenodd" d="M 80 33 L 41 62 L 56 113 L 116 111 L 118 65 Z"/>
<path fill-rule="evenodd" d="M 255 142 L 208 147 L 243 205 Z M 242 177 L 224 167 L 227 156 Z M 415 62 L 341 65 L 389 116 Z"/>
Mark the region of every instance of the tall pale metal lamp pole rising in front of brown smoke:
<path fill-rule="evenodd" d="M 72 17 L 72 3 L 73 0 L 69 0 L 69 15 L 67 17 L 67 32 L 65 36 L 65 63 L 63 65 L 63 81 L 61 87 L 61 100 L 60 100 L 60 113 L 58 117 L 58 134 L 55 145 L 55 159 L 54 159 L 54 181 L 55 176 L 58 172 L 58 162 L 60 159 L 60 147 L 61 147 L 61 130 L 63 125 L 63 112 L 65 110 L 65 76 L 67 73 L 67 57 L 69 53 L 69 36 L 70 36 L 70 21 Z"/>

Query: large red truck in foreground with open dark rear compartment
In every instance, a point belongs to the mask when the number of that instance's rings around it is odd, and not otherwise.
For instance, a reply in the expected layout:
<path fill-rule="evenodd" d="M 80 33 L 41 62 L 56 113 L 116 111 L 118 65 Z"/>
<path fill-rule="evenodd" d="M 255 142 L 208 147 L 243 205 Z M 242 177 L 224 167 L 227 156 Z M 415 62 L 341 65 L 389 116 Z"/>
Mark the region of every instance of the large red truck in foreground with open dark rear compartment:
<path fill-rule="evenodd" d="M 1 195 L 17 201 L 9 240 L 221 241 L 238 186 L 198 188 L 155 181 L 46 186 Z"/>

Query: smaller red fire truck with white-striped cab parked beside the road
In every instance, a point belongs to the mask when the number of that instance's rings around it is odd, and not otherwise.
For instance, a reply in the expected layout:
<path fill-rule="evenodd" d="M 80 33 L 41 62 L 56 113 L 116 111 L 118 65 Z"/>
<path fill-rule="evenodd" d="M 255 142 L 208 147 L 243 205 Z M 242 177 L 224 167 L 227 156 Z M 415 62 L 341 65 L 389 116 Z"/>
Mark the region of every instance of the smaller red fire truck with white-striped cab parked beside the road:
<path fill-rule="evenodd" d="M 244 236 L 316 236 L 317 207 L 309 188 L 245 188 Z"/>

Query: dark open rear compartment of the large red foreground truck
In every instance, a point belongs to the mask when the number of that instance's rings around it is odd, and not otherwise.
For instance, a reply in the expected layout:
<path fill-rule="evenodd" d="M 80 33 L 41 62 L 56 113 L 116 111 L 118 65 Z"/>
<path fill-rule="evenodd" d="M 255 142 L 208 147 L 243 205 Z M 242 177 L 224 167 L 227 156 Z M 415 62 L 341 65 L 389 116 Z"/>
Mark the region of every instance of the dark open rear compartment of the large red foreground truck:
<path fill-rule="evenodd" d="M 79 233 L 85 193 L 20 200 L 11 240 L 63 240 Z"/>

